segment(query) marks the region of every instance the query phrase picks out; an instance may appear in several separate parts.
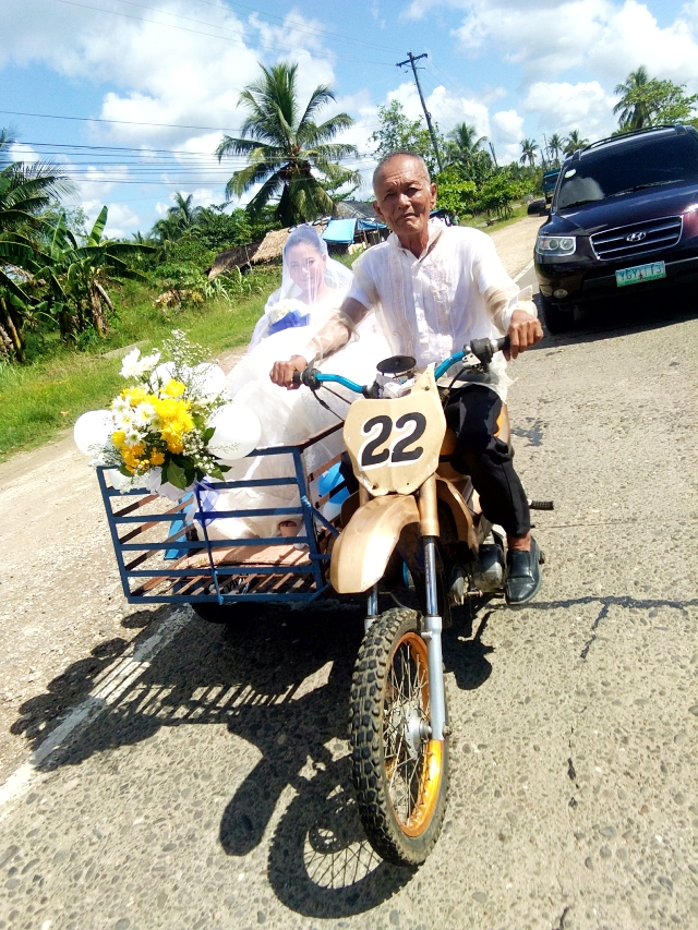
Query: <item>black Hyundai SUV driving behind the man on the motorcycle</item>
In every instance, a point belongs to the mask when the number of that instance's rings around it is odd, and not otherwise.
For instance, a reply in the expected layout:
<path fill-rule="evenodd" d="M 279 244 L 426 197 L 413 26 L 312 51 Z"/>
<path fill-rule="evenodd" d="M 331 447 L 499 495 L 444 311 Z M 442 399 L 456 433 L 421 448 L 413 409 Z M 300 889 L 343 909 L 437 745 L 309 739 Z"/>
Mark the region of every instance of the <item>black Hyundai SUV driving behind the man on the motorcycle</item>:
<path fill-rule="evenodd" d="M 576 305 L 698 279 L 698 132 L 658 126 L 575 152 L 534 259 L 551 333 Z"/>

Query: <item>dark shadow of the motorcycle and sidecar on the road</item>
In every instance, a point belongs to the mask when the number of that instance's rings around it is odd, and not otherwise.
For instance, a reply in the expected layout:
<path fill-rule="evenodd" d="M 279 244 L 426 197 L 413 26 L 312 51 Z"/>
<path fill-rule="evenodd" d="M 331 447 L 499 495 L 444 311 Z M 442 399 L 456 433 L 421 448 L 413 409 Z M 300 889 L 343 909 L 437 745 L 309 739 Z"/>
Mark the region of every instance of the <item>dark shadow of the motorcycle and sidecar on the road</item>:
<path fill-rule="evenodd" d="M 226 854 L 244 857 L 261 844 L 290 786 L 296 798 L 269 848 L 275 893 L 288 907 L 316 918 L 370 910 L 413 872 L 388 866 L 374 854 L 353 799 L 348 700 L 362 620 L 358 601 L 268 609 L 254 618 L 241 611 L 240 619 L 228 626 L 194 618 L 149 664 L 127 676 L 104 699 L 100 712 L 41 768 L 77 765 L 94 754 L 137 745 L 164 726 L 222 724 L 250 745 L 251 758 L 260 757 L 241 782 L 238 776 L 220 819 Z M 124 620 L 127 626 L 139 623 L 137 613 Z M 460 621 L 445 637 L 446 666 L 461 688 L 480 687 L 491 673 L 485 659 L 490 648 L 482 642 L 485 624 Z M 473 627 L 476 635 L 464 642 Z M 124 640 L 104 643 L 67 668 L 46 695 L 23 704 L 15 732 L 37 748 L 53 726 L 56 696 L 62 696 L 62 704 L 67 693 L 74 701 L 91 691 L 101 695 L 103 673 L 125 645 Z M 68 691 L 65 683 L 73 683 Z M 240 760 L 234 761 L 231 768 L 239 771 Z"/>

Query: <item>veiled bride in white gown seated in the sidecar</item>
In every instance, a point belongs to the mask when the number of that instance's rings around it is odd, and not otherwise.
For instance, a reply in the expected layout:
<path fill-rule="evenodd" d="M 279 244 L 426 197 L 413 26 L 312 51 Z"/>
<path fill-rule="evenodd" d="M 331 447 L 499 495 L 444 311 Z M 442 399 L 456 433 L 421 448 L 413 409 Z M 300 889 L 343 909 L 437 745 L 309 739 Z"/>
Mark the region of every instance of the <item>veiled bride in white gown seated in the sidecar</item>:
<path fill-rule="evenodd" d="M 327 254 L 327 245 L 312 226 L 297 227 L 284 246 L 281 287 L 269 297 L 264 315 L 257 322 L 248 354 L 228 375 L 228 394 L 237 402 L 252 409 L 262 424 L 258 448 L 296 445 L 327 426 L 344 420 L 351 391 L 333 385 L 342 397 L 334 397 L 321 388 L 320 396 L 334 411 L 322 407 L 310 390 L 286 390 L 269 379 L 277 359 L 302 351 L 326 321 L 341 305 L 351 285 L 352 274 Z M 373 314 L 358 327 L 354 340 L 327 362 L 327 371 L 341 374 L 358 384 L 370 384 L 375 366 L 390 354 L 385 339 L 376 333 Z M 325 367 L 318 364 L 322 370 Z M 305 452 L 305 466 L 312 471 L 342 448 L 341 431 L 314 444 Z M 227 481 L 293 475 L 290 456 L 255 456 L 241 459 L 229 472 Z M 214 505 L 221 510 L 256 510 L 289 507 L 298 503 L 292 485 L 221 491 Z M 289 535 L 300 524 L 300 517 L 228 517 L 207 521 L 212 539 L 249 539 Z"/>

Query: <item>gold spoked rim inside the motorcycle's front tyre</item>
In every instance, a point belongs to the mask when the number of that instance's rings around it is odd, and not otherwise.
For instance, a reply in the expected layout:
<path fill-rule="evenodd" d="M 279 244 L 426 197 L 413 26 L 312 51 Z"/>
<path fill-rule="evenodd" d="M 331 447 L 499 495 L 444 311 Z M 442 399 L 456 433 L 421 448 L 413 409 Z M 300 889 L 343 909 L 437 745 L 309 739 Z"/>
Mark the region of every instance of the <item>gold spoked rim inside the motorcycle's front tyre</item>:
<path fill-rule="evenodd" d="M 407 836 L 421 836 L 431 823 L 443 774 L 443 742 L 417 740 L 429 722 L 426 643 L 405 633 L 395 645 L 383 706 L 383 751 L 390 805 Z"/>

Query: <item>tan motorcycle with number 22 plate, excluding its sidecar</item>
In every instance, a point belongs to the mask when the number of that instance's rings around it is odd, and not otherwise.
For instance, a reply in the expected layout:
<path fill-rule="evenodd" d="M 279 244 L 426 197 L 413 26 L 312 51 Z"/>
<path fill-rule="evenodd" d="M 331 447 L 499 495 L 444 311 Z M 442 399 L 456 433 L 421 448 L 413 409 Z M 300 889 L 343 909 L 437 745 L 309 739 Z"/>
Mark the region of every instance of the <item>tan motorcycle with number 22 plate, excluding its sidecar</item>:
<path fill-rule="evenodd" d="M 374 849 L 402 866 L 424 861 L 443 824 L 449 778 L 448 710 L 442 629 L 450 607 L 493 594 L 505 581 L 504 540 L 482 514 L 469 478 L 448 463 L 448 386 L 470 373 L 486 379 L 507 340 L 474 340 L 435 369 L 414 374 L 414 359 L 378 364 L 362 387 L 315 369 L 294 381 L 313 391 L 336 383 L 362 395 L 351 403 L 344 440 L 359 483 L 342 504 L 330 548 L 330 582 L 340 594 L 366 593 L 365 636 L 357 656 L 350 734 L 359 811 Z M 497 435 L 509 443 L 506 406 Z M 552 505 L 533 503 L 542 509 Z M 421 611 L 378 613 L 380 591 L 407 569 Z"/>

